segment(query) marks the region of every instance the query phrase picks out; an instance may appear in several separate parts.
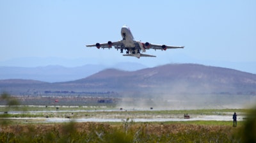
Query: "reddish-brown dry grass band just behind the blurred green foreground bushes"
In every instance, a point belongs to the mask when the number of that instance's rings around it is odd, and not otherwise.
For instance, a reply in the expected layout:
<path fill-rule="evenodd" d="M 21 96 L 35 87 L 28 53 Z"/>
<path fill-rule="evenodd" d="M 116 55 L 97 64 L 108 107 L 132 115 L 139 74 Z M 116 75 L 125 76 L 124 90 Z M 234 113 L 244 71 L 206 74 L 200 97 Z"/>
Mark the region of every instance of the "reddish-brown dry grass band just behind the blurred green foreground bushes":
<path fill-rule="evenodd" d="M 47 133 L 51 130 L 58 130 L 58 132 L 63 133 L 65 129 L 63 126 L 71 123 L 54 123 L 54 124 L 13 124 L 8 126 L 2 126 L 1 132 L 9 132 L 14 134 L 19 133 Z M 97 130 L 101 128 L 102 130 L 116 130 L 124 128 L 124 124 L 109 124 L 109 123 L 72 123 L 74 129 L 77 132 L 88 133 L 91 130 Z M 73 128 L 73 127 L 72 127 Z M 162 124 L 162 123 L 134 123 L 129 124 L 129 130 L 136 131 L 140 128 L 147 130 L 147 133 L 161 135 L 168 133 L 180 133 L 188 131 L 204 131 L 204 132 L 223 132 L 231 133 L 236 131 L 237 128 L 232 126 L 222 126 L 222 125 L 198 125 L 198 124 Z M 125 130 L 125 129 L 124 129 Z M 128 130 L 128 129 L 127 129 Z"/>

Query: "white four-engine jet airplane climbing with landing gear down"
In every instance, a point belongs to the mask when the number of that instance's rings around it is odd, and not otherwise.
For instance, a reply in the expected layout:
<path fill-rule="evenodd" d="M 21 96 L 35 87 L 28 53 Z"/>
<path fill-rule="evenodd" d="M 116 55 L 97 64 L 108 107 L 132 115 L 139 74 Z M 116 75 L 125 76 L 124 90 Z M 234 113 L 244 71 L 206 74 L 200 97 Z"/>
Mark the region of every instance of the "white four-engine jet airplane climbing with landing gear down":
<path fill-rule="evenodd" d="M 147 54 L 141 54 L 141 52 L 146 52 L 148 49 L 155 49 L 155 50 L 166 50 L 166 49 L 177 49 L 177 48 L 184 48 L 184 46 L 168 46 L 168 45 L 157 45 L 152 43 L 142 43 L 141 41 L 135 41 L 131 30 L 128 26 L 124 25 L 121 29 L 121 35 L 123 40 L 121 41 L 108 41 L 108 43 L 96 43 L 95 45 L 86 45 L 86 47 L 97 47 L 100 49 L 105 48 L 112 48 L 115 47 L 115 49 L 120 49 L 121 53 L 124 53 L 124 50 L 126 50 L 126 54 L 123 54 L 123 56 L 134 56 L 134 57 L 156 57 L 152 55 Z"/>

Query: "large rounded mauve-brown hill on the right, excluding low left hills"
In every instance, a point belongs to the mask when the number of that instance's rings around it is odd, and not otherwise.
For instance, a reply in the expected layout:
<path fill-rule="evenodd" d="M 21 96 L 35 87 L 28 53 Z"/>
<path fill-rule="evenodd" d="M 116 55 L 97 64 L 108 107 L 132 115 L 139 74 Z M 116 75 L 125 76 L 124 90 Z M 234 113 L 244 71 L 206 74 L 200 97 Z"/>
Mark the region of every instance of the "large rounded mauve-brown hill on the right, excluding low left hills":
<path fill-rule="evenodd" d="M 171 93 L 249 92 L 256 90 L 256 75 L 200 64 L 166 64 L 135 72 L 103 70 L 72 84 L 116 91 L 145 89 Z"/>

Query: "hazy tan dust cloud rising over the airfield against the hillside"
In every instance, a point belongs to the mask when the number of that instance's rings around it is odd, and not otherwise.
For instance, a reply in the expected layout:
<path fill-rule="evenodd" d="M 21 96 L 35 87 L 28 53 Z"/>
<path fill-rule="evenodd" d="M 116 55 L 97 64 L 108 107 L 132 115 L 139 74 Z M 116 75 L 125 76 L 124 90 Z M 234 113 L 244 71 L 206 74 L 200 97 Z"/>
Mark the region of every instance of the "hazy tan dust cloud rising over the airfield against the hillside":
<path fill-rule="evenodd" d="M 256 96 L 237 94 L 235 89 L 216 86 L 216 84 L 188 83 L 173 81 L 165 85 L 139 89 L 133 93 L 122 93 L 118 107 L 124 109 L 248 109 L 255 105 Z M 223 92 L 223 91 L 232 91 Z"/>

